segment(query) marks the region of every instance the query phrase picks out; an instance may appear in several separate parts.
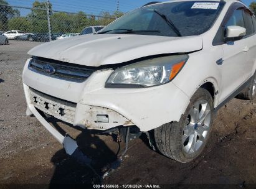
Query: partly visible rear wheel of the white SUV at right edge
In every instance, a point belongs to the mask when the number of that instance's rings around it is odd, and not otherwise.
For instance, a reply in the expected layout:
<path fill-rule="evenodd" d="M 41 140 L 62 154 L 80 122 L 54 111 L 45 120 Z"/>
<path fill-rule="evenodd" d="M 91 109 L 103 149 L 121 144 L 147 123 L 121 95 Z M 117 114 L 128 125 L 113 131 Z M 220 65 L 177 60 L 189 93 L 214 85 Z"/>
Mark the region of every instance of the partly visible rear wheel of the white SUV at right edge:
<path fill-rule="evenodd" d="M 256 72 L 254 73 L 254 77 L 250 84 L 242 90 L 239 94 L 237 94 L 237 98 L 253 100 L 256 94 Z"/>

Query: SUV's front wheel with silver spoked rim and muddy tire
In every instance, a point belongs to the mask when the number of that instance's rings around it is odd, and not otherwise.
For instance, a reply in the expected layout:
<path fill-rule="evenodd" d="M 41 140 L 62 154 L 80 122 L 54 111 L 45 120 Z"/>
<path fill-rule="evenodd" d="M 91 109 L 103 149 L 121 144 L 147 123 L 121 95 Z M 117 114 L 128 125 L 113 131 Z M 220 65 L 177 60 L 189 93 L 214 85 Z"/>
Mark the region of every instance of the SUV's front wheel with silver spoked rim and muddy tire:
<path fill-rule="evenodd" d="M 209 91 L 199 88 L 179 122 L 171 122 L 154 129 L 156 147 L 170 159 L 181 163 L 191 162 L 204 150 L 211 134 L 213 119 L 212 96 Z"/>

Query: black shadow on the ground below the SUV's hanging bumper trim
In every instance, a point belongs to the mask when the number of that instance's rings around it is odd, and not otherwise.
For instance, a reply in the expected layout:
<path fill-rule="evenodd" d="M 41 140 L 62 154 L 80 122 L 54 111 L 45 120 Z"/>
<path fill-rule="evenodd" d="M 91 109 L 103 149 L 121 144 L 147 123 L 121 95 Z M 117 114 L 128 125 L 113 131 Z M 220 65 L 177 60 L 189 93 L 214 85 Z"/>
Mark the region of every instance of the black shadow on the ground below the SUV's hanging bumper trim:
<path fill-rule="evenodd" d="M 54 122 L 54 118 L 47 118 L 54 125 L 54 127 L 61 133 L 65 131 Z M 77 129 L 77 128 L 76 128 Z M 79 129 L 82 131 L 77 137 L 76 141 L 78 149 L 84 155 L 92 160 L 88 166 L 70 155 L 65 153 L 65 149 L 56 152 L 51 162 L 55 165 L 55 170 L 50 180 L 49 188 L 56 188 L 60 184 L 75 185 L 76 188 L 83 184 L 99 184 L 102 183 L 102 176 L 107 172 L 111 164 L 118 159 L 119 149 L 114 152 L 110 149 L 98 132 Z M 113 140 L 114 140 L 113 136 Z"/>

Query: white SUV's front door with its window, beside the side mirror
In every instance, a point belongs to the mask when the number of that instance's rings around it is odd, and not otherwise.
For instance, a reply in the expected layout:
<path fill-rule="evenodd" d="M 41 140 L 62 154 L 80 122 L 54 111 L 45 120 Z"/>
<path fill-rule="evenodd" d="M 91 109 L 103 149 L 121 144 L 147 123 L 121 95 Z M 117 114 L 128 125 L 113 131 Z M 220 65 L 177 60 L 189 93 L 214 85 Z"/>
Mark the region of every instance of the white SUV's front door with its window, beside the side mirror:
<path fill-rule="evenodd" d="M 242 5 L 242 4 L 241 4 Z M 225 28 L 230 25 L 245 27 L 243 8 L 238 7 L 230 14 Z M 247 41 L 244 37 L 230 40 L 222 45 L 223 47 L 223 64 L 220 66 L 221 83 L 220 83 L 220 102 L 224 101 L 233 94 L 244 82 L 244 67 L 247 65 Z"/>

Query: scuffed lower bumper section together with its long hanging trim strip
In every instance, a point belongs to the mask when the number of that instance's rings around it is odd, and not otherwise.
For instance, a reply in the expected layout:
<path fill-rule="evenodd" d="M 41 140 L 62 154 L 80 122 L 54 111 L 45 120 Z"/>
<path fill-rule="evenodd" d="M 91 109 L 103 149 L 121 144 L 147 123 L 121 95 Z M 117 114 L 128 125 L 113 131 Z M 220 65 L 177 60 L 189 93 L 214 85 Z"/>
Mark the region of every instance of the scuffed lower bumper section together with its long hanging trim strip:
<path fill-rule="evenodd" d="M 23 84 L 24 86 L 24 93 L 26 96 L 27 101 L 27 116 L 31 116 L 32 114 L 39 120 L 39 122 L 47 129 L 47 131 L 52 134 L 52 136 L 57 139 L 64 146 L 64 149 L 67 154 L 74 155 L 76 158 L 80 159 L 82 162 L 86 164 L 90 164 L 90 159 L 88 159 L 85 155 L 78 150 L 77 142 L 72 139 L 68 134 L 63 136 L 57 131 L 53 126 L 47 122 L 44 117 L 39 113 L 37 109 L 40 111 L 54 116 L 57 119 L 60 119 L 65 122 L 69 122 L 73 124 L 76 120 L 77 124 L 75 126 L 80 126 L 85 128 L 87 126 L 88 129 L 90 128 L 98 128 L 102 130 L 109 129 L 109 125 L 111 127 L 114 126 L 130 126 L 133 125 L 128 119 L 124 118 L 120 114 L 116 113 L 115 111 L 111 111 L 107 108 L 100 108 L 100 107 L 93 107 L 93 106 L 79 106 L 78 112 L 83 112 L 84 114 L 77 114 L 75 118 L 75 112 L 77 111 L 77 104 L 70 103 L 67 101 L 63 101 L 61 99 L 54 98 L 44 93 L 40 93 L 39 91 L 33 90 L 29 88 L 29 86 Z M 82 109 L 81 109 L 82 108 Z M 106 114 L 107 113 L 107 114 Z M 98 115 L 98 116 L 97 116 Z M 86 120 L 85 120 L 86 116 Z M 99 119 L 100 121 L 93 121 L 93 118 L 98 118 L 99 116 L 103 116 L 104 118 L 108 119 Z M 113 121 L 115 120 L 115 121 Z M 104 122 L 103 122 L 104 121 Z M 121 124 L 123 123 L 123 124 Z"/>

